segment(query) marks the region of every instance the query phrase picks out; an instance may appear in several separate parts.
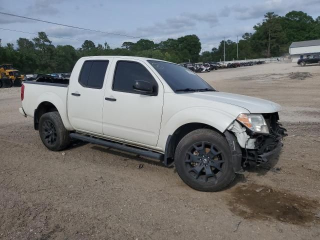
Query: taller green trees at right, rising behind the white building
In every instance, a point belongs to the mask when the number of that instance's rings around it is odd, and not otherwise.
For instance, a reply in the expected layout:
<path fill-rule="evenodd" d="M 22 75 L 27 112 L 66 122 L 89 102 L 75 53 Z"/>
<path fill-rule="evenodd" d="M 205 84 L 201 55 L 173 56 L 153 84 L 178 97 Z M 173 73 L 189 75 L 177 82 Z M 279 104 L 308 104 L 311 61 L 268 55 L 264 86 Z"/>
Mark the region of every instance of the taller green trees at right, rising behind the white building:
<path fill-rule="evenodd" d="M 289 51 L 293 41 L 320 39 L 320 16 L 315 20 L 302 11 L 290 11 L 285 16 L 267 12 L 264 19 L 253 26 L 253 33 L 246 32 L 238 41 L 238 59 L 281 56 Z M 213 47 L 211 60 L 223 60 L 223 44 Z M 200 61 L 208 59 L 202 53 Z M 225 42 L 225 60 L 236 59 L 236 43 Z"/>

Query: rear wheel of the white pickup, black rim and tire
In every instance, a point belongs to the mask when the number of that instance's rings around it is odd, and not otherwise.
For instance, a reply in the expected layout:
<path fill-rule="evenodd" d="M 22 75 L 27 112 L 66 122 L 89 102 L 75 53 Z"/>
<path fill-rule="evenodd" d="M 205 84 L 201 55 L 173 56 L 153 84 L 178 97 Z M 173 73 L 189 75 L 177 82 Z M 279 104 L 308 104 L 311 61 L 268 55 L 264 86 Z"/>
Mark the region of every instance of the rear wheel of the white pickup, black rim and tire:
<path fill-rule="evenodd" d="M 51 151 L 62 150 L 70 143 L 69 131 L 57 111 L 46 112 L 40 117 L 39 134 L 43 144 Z"/>

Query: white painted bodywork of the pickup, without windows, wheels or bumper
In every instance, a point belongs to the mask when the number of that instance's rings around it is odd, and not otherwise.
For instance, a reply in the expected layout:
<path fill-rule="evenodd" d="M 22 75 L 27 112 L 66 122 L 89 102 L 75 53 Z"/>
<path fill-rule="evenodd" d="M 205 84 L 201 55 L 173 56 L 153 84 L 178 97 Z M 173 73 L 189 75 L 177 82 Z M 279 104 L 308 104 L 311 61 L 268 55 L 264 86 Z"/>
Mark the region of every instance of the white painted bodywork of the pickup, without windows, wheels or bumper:
<path fill-rule="evenodd" d="M 78 83 L 83 62 L 92 59 L 109 60 L 101 89 L 83 87 Z M 186 123 L 204 123 L 223 132 L 240 113 L 271 113 L 281 109 L 268 100 L 232 93 L 175 93 L 147 62 L 149 59 L 133 56 L 82 57 L 72 70 L 68 87 L 25 82 L 24 112 L 33 117 L 38 105 L 47 101 L 57 108 L 67 130 L 163 153 L 167 137 Z M 118 60 L 142 64 L 156 80 L 158 94 L 151 96 L 112 90 Z M 116 101 L 107 101 L 105 97 L 116 98 Z"/>

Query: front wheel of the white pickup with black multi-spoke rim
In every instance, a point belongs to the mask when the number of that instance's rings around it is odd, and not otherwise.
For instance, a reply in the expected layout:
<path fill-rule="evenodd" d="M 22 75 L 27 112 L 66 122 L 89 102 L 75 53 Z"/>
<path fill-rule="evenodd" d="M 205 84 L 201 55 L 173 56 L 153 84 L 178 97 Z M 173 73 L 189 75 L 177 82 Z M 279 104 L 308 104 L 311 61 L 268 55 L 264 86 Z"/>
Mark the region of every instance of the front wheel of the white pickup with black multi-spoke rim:
<path fill-rule="evenodd" d="M 224 136 L 211 129 L 196 129 L 178 143 L 174 163 L 188 186 L 199 191 L 218 191 L 235 176 L 231 157 Z"/>

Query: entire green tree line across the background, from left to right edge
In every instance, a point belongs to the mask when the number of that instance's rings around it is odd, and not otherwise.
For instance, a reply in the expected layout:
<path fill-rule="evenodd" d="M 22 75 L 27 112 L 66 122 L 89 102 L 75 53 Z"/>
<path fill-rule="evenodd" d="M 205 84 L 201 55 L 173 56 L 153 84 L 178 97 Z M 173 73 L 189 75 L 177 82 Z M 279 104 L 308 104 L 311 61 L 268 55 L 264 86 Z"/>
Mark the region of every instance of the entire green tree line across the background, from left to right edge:
<path fill-rule="evenodd" d="M 313 19 L 302 11 L 290 11 L 284 16 L 267 12 L 261 22 L 253 26 L 254 32 L 246 32 L 238 41 L 238 59 L 280 56 L 288 52 L 292 41 L 320 38 L 320 16 Z M 218 47 L 200 54 L 201 43 L 195 35 L 155 43 L 140 39 L 126 41 L 121 47 L 110 48 L 107 42 L 97 44 L 85 40 L 81 47 L 51 44 L 45 32 L 29 40 L 20 37 L 13 43 L 0 46 L 0 64 L 12 63 L 23 73 L 69 72 L 76 60 L 88 55 L 131 55 L 163 59 L 171 62 L 197 62 L 223 60 L 224 40 Z M 225 41 L 225 60 L 236 58 L 236 42 Z"/>

